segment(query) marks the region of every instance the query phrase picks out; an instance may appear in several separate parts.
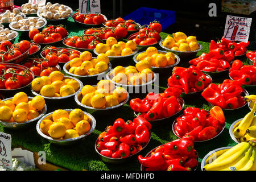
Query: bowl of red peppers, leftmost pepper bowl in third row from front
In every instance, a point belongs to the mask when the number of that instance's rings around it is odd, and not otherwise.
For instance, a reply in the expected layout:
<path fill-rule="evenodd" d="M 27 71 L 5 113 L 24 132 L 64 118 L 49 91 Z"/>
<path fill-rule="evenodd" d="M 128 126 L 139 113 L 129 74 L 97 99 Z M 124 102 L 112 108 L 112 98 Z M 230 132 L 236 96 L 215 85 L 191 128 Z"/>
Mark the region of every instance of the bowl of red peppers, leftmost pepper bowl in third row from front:
<path fill-rule="evenodd" d="M 174 67 L 172 76 L 168 78 L 168 87 L 181 89 L 183 96 L 201 94 L 211 83 L 212 78 L 193 65 L 189 68 Z"/>

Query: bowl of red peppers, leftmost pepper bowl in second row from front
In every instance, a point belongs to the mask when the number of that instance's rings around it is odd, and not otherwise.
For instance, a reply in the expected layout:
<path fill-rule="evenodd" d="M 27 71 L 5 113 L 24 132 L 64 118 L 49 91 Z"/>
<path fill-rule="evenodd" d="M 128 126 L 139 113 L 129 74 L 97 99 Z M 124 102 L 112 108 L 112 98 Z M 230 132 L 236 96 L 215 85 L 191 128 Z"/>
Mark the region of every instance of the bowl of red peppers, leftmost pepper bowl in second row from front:
<path fill-rule="evenodd" d="M 181 89 L 167 88 L 164 93 L 148 93 L 146 98 L 134 98 L 130 107 L 138 117 L 147 119 L 151 124 L 172 122 L 184 107 L 184 100 L 180 97 Z"/>

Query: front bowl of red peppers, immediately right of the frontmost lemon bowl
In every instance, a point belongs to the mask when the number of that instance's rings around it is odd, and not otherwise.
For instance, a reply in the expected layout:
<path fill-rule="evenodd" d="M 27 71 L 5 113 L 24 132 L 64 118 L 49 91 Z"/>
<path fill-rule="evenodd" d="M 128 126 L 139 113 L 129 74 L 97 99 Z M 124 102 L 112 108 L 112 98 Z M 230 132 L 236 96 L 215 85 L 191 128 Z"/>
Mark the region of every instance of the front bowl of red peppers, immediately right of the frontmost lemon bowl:
<path fill-rule="evenodd" d="M 127 162 L 150 142 L 151 124 L 142 117 L 125 122 L 118 118 L 97 138 L 95 150 L 105 163 Z"/>

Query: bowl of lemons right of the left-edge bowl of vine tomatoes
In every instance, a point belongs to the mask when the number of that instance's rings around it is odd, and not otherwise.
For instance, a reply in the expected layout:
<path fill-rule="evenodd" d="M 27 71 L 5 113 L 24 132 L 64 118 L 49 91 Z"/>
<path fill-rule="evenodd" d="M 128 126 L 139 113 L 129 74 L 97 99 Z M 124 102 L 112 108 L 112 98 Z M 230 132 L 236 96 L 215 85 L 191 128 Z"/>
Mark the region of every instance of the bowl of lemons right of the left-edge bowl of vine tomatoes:
<path fill-rule="evenodd" d="M 49 76 L 34 78 L 31 83 L 31 92 L 35 96 L 42 96 L 47 104 L 60 104 L 73 100 L 82 86 L 79 79 L 64 76 L 60 71 L 53 71 Z"/>

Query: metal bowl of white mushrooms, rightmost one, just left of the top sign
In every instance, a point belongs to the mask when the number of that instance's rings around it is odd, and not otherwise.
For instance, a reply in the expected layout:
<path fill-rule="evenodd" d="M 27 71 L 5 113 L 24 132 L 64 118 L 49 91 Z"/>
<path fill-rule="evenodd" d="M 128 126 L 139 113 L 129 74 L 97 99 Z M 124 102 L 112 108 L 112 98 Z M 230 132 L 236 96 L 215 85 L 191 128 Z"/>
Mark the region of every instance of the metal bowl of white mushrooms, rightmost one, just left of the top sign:
<path fill-rule="evenodd" d="M 37 15 L 40 18 L 45 18 L 48 24 L 63 24 L 69 16 L 72 16 L 73 10 L 66 5 L 60 5 L 47 2 L 46 6 L 39 7 Z"/>

